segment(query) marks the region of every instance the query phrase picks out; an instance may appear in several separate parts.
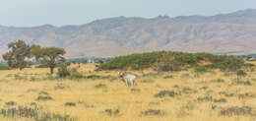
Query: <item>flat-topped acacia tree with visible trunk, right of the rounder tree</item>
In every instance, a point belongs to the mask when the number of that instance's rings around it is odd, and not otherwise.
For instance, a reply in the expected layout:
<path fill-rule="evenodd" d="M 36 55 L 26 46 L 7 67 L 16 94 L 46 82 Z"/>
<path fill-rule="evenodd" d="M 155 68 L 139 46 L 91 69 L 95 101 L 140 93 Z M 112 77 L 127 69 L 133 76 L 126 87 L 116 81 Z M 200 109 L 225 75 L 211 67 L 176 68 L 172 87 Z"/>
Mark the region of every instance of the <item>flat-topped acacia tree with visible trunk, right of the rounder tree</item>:
<path fill-rule="evenodd" d="M 58 61 L 65 60 L 63 55 L 66 53 L 63 48 L 40 47 L 39 45 L 33 45 L 31 52 L 36 61 L 50 68 L 50 74 L 54 73 Z"/>

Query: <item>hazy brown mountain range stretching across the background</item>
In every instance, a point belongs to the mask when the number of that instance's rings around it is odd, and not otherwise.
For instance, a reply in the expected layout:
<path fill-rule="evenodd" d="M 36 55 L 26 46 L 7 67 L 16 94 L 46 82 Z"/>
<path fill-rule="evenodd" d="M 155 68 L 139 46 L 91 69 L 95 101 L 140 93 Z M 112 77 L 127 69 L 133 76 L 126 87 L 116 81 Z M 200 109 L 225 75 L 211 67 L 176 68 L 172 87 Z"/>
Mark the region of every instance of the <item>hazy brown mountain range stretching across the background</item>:
<path fill-rule="evenodd" d="M 256 53 L 256 10 L 211 17 L 118 17 L 60 28 L 0 26 L 0 54 L 7 51 L 8 42 L 18 39 L 63 47 L 67 57 L 106 57 L 154 50 Z"/>

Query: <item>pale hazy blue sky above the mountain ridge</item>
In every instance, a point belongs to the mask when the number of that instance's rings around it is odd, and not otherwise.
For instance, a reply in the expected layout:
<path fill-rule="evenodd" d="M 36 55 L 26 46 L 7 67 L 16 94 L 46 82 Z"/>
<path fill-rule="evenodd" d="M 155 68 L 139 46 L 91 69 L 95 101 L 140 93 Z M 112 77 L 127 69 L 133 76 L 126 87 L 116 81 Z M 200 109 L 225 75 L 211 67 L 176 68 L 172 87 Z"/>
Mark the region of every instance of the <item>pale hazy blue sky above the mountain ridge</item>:
<path fill-rule="evenodd" d="M 82 25 L 110 17 L 216 15 L 256 9 L 256 0 L 0 0 L 0 25 Z"/>

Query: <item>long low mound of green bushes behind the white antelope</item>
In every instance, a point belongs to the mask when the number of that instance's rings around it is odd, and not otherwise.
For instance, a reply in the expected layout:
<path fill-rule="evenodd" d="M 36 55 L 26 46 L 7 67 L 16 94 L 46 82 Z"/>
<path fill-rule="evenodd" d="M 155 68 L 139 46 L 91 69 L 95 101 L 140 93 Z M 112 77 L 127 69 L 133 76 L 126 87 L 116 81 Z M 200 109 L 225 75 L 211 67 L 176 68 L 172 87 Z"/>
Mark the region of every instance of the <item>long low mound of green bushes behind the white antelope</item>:
<path fill-rule="evenodd" d="M 201 65 L 200 63 L 204 61 L 210 64 Z M 184 69 L 183 67 L 197 67 L 202 72 L 207 69 L 236 71 L 243 66 L 244 62 L 242 60 L 224 55 L 160 51 L 119 56 L 100 64 L 97 70 L 126 70 L 128 68 L 142 70 L 154 68 L 158 71 L 179 71 Z"/>

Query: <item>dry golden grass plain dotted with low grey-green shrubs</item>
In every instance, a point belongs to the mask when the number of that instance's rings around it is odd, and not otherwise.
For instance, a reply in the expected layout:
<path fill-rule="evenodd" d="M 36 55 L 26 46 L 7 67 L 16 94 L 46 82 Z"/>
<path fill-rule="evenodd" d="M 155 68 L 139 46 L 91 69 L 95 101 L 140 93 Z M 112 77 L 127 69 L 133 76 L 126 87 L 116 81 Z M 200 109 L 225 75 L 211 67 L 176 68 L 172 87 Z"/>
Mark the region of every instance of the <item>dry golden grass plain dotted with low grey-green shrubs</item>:
<path fill-rule="evenodd" d="M 118 71 L 69 68 L 88 78 L 58 79 L 47 68 L 0 71 L 0 120 L 256 120 L 256 71 L 241 79 L 220 70 L 131 71 L 137 85 L 127 88 Z"/>

